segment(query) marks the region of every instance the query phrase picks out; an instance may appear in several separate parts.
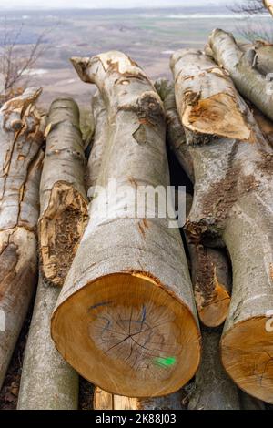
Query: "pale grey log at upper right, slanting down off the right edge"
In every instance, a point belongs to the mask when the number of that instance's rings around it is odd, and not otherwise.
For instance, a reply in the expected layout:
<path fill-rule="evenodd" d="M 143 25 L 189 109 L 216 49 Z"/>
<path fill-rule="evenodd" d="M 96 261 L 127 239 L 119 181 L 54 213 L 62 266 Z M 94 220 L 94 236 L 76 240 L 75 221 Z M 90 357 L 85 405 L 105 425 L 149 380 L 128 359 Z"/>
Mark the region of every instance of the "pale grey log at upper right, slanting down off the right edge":
<path fill-rule="evenodd" d="M 255 68 L 255 50 L 242 54 L 234 37 L 219 29 L 214 30 L 209 37 L 209 46 L 217 64 L 227 70 L 238 91 L 273 120 L 272 85 Z"/>

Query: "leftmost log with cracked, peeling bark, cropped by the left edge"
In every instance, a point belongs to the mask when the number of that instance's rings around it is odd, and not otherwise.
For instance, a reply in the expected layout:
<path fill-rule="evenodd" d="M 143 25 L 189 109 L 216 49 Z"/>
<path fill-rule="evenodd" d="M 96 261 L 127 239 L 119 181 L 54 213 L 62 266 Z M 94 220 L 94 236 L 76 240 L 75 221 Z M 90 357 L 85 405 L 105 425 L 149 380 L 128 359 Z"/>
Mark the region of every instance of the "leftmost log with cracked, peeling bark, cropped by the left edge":
<path fill-rule="evenodd" d="M 44 129 L 27 89 L 0 109 L 0 389 L 36 283 L 36 223 Z M 2 331 L 3 330 L 3 331 Z"/>

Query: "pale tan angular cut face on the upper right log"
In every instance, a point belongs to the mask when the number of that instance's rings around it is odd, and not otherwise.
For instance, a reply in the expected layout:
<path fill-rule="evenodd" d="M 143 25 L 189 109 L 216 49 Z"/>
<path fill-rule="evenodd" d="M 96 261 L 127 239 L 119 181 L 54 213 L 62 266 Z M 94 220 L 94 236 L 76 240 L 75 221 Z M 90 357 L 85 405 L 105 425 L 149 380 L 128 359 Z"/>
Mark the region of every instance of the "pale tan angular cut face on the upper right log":
<path fill-rule="evenodd" d="M 187 95 L 193 96 L 194 94 Z M 219 93 L 205 99 L 196 97 L 193 103 L 187 102 L 182 123 L 184 127 L 201 134 L 241 140 L 251 138 L 251 130 L 238 109 L 236 99 L 228 94 Z"/>

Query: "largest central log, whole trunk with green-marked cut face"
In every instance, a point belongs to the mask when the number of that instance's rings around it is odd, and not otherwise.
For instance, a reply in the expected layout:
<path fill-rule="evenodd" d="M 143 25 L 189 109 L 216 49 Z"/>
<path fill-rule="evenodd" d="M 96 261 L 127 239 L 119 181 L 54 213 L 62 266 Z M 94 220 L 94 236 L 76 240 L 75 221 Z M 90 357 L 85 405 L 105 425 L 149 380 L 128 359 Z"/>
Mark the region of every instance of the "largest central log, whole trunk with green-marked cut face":
<path fill-rule="evenodd" d="M 164 190 L 169 184 L 162 103 L 145 73 L 122 53 L 72 62 L 105 100 L 109 138 L 97 179 L 101 188 L 57 301 L 52 337 L 66 361 L 106 392 L 175 392 L 192 378 L 200 358 L 181 237 L 168 227 L 168 216 L 134 218 L 126 209 L 135 207 L 140 184 Z M 116 204 L 104 191 L 113 180 Z M 123 186 L 130 189 L 125 195 Z M 107 204 L 111 209 L 102 215 Z M 147 209 L 145 201 L 139 205 Z"/>

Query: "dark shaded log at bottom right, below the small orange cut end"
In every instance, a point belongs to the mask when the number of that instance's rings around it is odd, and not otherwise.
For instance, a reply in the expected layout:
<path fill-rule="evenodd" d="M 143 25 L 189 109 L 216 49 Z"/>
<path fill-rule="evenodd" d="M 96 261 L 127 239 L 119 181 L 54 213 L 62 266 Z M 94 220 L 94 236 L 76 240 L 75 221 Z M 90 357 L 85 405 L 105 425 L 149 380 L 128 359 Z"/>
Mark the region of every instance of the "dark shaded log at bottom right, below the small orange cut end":
<path fill-rule="evenodd" d="M 188 410 L 239 410 L 238 388 L 220 362 L 217 331 L 202 331 L 203 352 Z"/>

